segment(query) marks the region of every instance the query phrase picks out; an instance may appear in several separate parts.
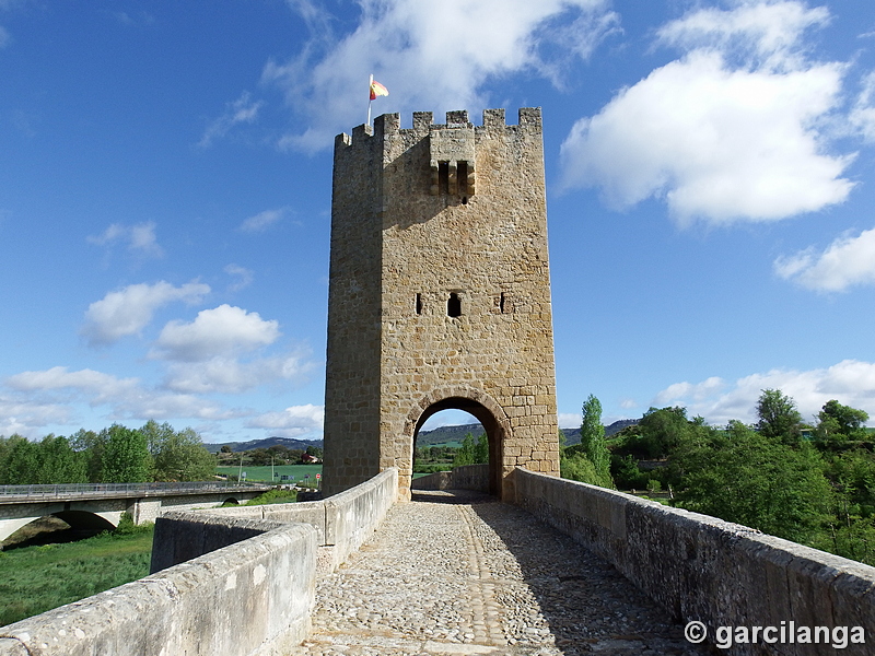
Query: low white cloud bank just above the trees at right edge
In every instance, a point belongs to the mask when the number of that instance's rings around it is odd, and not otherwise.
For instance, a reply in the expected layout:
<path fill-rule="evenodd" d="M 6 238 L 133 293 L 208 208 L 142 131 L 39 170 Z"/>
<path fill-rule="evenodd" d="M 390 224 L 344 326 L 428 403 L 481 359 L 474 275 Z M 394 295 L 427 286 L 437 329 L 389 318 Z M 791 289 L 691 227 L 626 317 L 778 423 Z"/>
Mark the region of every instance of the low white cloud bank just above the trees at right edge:
<path fill-rule="evenodd" d="M 718 425 L 731 419 L 754 423 L 757 399 L 763 389 L 780 389 L 792 397 L 807 420 L 830 399 L 875 417 L 875 363 L 859 360 L 843 360 L 808 371 L 772 370 L 745 376 L 734 384 L 716 377 L 698 384 L 677 383 L 657 394 L 653 405 L 686 406 L 690 415 L 704 417 Z"/>

